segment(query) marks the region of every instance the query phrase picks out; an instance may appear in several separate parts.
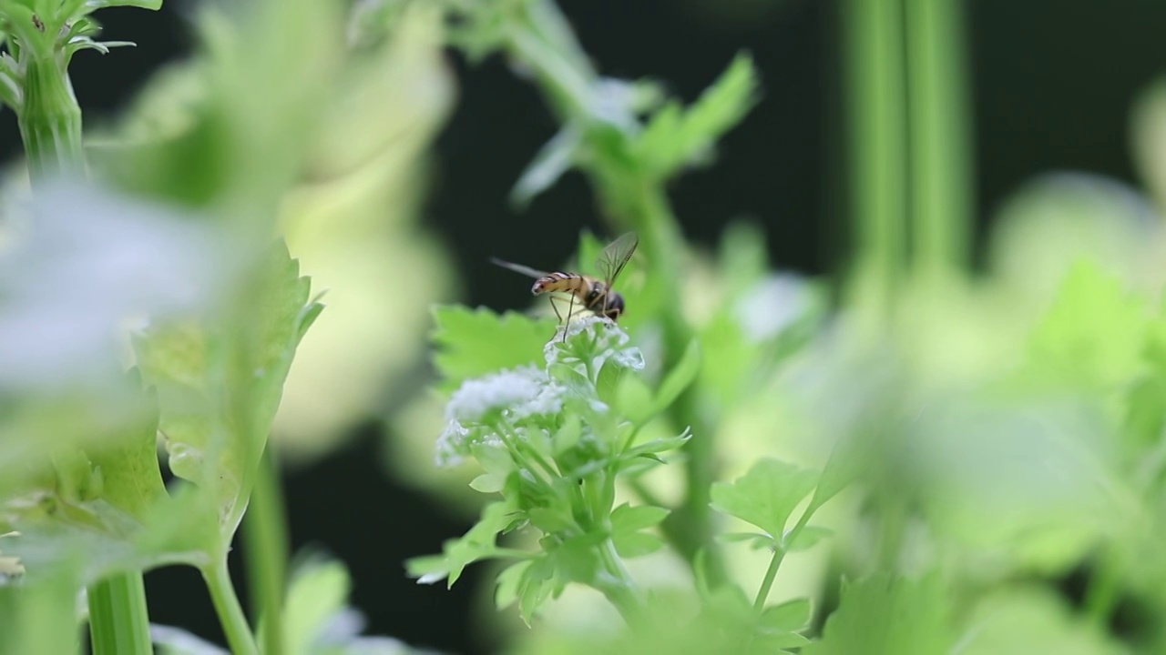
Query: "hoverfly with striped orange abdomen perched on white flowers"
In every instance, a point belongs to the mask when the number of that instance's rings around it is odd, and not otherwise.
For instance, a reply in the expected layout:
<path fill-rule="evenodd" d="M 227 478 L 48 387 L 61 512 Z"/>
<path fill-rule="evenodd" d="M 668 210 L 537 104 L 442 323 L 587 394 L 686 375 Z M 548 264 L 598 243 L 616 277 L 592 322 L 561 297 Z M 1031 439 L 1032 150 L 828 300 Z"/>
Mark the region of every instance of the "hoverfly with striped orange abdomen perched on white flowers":
<path fill-rule="evenodd" d="M 531 293 L 534 295 L 547 294 L 547 293 L 563 293 L 569 294 L 571 297 L 570 307 L 567 310 L 567 324 L 570 324 L 571 314 L 575 310 L 575 301 L 578 300 L 583 309 L 610 318 L 611 321 L 618 321 L 619 316 L 624 314 L 624 296 L 612 290 L 612 284 L 616 283 L 616 279 L 619 277 L 619 273 L 624 270 L 627 266 L 628 260 L 632 259 L 632 253 L 635 252 L 635 246 L 639 245 L 639 237 L 634 232 L 627 232 L 626 234 L 619 237 L 614 241 L 607 245 L 599 253 L 599 259 L 596 260 L 595 268 L 603 276 L 603 280 L 591 277 L 589 275 L 580 275 L 578 273 L 562 273 L 554 272 L 548 273 L 546 270 L 538 270 L 528 266 L 522 266 L 520 263 L 511 263 L 508 261 L 503 261 L 500 259 L 490 258 L 490 261 L 501 266 L 503 268 L 508 268 L 515 273 L 521 273 L 529 277 L 534 277 L 536 281 L 533 287 L 531 287 Z M 563 316 L 559 314 L 559 308 L 552 302 L 552 308 L 555 310 L 555 316 L 559 321 L 563 321 Z M 563 339 L 567 338 L 567 331 L 563 330 Z"/>

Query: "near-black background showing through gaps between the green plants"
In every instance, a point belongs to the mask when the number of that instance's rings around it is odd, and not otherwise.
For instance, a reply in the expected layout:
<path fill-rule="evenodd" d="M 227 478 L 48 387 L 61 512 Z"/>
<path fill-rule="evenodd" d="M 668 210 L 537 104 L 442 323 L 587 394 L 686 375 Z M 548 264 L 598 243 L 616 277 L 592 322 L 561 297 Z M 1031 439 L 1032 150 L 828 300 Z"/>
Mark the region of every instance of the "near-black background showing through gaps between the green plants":
<path fill-rule="evenodd" d="M 722 3 L 746 13 L 732 19 L 711 9 Z M 1129 110 L 1136 94 L 1166 72 L 1166 2 L 968 5 L 981 234 L 993 207 L 1033 175 L 1083 169 L 1136 182 Z M 777 266 L 812 274 L 830 269 L 844 161 L 836 0 L 563 0 L 561 6 L 604 73 L 663 79 L 687 100 L 737 50 L 750 50 L 764 76 L 764 100 L 723 141 L 717 165 L 674 185 L 676 211 L 695 241 L 712 242 L 729 220 L 752 218 L 765 225 Z M 189 51 L 181 10 L 181 3 L 168 2 L 157 13 L 114 8 L 99 15 L 106 37 L 139 47 L 104 57 L 86 51 L 75 59 L 73 84 L 87 119 L 111 115 L 155 66 Z M 549 268 L 573 249 L 581 227 L 602 226 L 577 174 L 524 214 L 508 209 L 510 186 L 555 125 L 535 90 L 503 62 L 468 68 L 454 61 L 459 105 L 437 145 L 438 179 L 426 220 L 462 262 L 470 303 L 517 307 L 528 301 L 526 290 L 500 283 L 487 256 L 534 252 L 540 259 L 529 263 Z M 0 153 L 10 159 L 20 148 L 10 113 L 0 126 Z M 478 582 L 475 569 L 452 591 L 417 586 L 401 569 L 406 557 L 436 551 L 468 526 L 443 522 L 426 498 L 385 479 L 379 428 L 356 437 L 287 478 L 293 547 L 314 544 L 344 559 L 370 633 L 459 653 L 490 652 L 465 614 L 470 586 Z M 155 571 L 147 584 L 153 620 L 222 640 L 196 571 Z"/>

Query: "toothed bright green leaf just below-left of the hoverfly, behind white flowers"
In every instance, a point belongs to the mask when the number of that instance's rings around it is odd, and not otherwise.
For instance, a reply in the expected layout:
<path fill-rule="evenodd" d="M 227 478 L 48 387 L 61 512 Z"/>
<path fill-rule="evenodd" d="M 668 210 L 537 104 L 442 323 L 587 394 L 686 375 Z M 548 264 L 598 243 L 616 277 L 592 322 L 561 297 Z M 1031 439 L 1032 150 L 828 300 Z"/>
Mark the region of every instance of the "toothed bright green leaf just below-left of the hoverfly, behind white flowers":
<path fill-rule="evenodd" d="M 510 311 L 499 316 L 484 308 L 436 307 L 434 322 L 434 364 L 443 376 L 438 388 L 445 392 L 469 378 L 542 364 L 542 346 L 554 334 L 547 321 Z"/>

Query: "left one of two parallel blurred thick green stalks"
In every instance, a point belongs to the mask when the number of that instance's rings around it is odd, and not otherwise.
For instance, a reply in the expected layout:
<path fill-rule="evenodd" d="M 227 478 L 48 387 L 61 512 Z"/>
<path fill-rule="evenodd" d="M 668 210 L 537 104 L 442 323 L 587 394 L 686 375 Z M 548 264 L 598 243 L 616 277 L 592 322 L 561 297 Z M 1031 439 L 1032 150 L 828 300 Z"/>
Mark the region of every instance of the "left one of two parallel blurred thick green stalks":
<path fill-rule="evenodd" d="M 877 329 L 891 318 L 907 251 L 902 6 L 847 0 L 841 14 L 855 247 L 847 293 Z"/>

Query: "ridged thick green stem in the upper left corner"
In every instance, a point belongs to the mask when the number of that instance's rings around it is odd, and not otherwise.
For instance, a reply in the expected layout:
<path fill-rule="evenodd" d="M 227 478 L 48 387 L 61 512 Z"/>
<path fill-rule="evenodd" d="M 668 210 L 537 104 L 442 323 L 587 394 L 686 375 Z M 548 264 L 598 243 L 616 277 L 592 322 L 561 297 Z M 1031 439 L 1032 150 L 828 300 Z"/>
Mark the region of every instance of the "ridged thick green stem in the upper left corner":
<path fill-rule="evenodd" d="M 16 112 L 34 184 L 54 175 L 84 172 L 80 105 L 57 56 L 26 62 L 23 104 Z"/>

